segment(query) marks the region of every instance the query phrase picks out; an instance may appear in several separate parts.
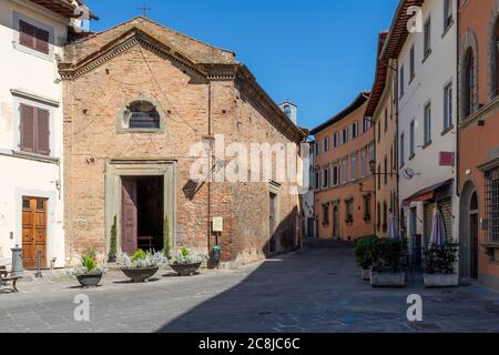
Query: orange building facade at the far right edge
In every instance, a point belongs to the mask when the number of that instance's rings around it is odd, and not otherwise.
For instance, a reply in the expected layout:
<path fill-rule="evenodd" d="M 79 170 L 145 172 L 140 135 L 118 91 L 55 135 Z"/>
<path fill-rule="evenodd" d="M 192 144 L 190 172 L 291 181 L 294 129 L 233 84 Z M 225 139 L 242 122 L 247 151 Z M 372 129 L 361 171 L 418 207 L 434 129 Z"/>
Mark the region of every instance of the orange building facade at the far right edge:
<path fill-rule="evenodd" d="M 460 273 L 499 287 L 499 1 L 460 1 Z"/>

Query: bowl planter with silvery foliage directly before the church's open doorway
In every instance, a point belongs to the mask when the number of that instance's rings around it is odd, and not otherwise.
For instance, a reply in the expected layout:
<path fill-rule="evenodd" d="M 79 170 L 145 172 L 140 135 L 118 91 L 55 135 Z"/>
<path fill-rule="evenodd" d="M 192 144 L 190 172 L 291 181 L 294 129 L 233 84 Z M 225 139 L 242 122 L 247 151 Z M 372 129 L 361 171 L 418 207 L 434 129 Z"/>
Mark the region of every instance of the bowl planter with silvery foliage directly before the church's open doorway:
<path fill-rule="evenodd" d="M 124 253 L 118 257 L 121 271 L 133 283 L 149 281 L 157 273 L 161 266 L 167 263 L 169 260 L 164 256 L 164 252 L 146 253 L 143 250 L 138 250 L 132 256 Z"/>

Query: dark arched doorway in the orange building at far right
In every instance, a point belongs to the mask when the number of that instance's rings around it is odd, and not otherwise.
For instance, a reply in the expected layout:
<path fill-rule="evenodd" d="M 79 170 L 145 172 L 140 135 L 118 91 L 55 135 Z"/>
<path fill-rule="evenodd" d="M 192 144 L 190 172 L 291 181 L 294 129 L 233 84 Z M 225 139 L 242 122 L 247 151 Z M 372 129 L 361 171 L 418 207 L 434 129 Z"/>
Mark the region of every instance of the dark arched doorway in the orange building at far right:
<path fill-rule="evenodd" d="M 472 181 L 467 181 L 462 187 L 459 214 L 460 276 L 478 278 L 479 195 Z"/>

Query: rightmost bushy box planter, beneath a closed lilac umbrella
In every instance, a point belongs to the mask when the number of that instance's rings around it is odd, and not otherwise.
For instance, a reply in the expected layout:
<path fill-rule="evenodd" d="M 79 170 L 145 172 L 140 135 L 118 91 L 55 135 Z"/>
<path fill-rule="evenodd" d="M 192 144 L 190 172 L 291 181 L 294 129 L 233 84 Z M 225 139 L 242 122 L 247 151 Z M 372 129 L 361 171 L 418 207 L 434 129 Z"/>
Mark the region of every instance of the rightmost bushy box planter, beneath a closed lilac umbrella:
<path fill-rule="evenodd" d="M 455 242 L 446 242 L 442 245 L 432 244 L 425 251 L 422 277 L 426 287 L 459 286 L 459 275 L 455 271 L 458 247 Z"/>

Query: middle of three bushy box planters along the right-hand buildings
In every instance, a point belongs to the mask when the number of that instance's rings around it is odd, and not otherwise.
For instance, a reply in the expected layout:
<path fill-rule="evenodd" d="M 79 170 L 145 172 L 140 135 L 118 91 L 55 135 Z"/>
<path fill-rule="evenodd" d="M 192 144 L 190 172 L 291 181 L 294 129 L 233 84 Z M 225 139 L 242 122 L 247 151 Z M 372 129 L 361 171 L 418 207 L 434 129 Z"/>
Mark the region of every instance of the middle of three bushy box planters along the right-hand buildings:
<path fill-rule="evenodd" d="M 394 239 L 379 239 L 373 245 L 373 287 L 404 287 L 406 273 L 400 268 L 404 242 Z"/>

